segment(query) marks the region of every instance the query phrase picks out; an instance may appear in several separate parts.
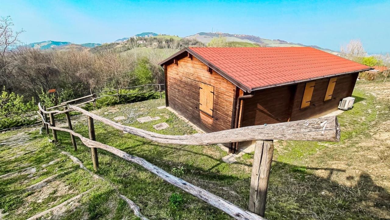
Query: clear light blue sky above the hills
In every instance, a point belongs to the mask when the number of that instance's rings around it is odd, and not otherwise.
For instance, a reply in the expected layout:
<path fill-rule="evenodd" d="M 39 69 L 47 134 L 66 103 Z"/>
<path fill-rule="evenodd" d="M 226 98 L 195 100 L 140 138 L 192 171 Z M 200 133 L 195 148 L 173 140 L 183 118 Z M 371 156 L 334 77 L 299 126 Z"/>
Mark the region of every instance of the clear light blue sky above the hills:
<path fill-rule="evenodd" d="M 390 53 L 390 0 L 103 1 L 0 0 L 24 43 L 106 43 L 141 32 L 189 36 L 248 34 L 340 50 L 359 39 L 370 54 Z"/>

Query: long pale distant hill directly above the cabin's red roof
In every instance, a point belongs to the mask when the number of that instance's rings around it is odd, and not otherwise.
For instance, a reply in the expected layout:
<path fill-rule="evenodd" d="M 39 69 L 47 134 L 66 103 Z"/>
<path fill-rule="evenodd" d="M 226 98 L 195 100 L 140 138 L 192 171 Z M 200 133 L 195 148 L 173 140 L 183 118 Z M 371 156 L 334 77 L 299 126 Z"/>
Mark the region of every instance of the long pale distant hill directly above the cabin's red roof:
<path fill-rule="evenodd" d="M 280 39 L 265 39 L 260 38 L 258 36 L 254 35 L 246 35 L 246 34 L 229 34 L 229 33 L 221 33 L 221 32 L 199 32 L 194 35 L 187 36 L 185 38 L 189 39 L 197 39 L 198 41 L 202 43 L 209 43 L 211 39 L 218 38 L 219 36 L 225 37 L 227 41 L 232 42 L 243 42 L 243 43 L 251 43 L 258 45 L 260 47 L 314 47 L 320 50 L 324 50 L 326 52 L 335 53 L 335 51 L 321 48 L 316 45 L 303 45 L 301 43 L 292 43 L 287 42 Z"/>

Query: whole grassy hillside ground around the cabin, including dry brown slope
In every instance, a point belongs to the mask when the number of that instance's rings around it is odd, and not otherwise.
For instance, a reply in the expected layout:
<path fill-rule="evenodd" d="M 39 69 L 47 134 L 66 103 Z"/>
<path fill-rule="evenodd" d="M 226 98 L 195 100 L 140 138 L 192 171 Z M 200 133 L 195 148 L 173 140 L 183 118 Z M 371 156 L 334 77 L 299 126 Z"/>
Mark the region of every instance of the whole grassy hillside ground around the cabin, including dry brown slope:
<path fill-rule="evenodd" d="M 338 116 L 341 141 L 275 141 L 269 180 L 266 218 L 389 219 L 390 218 L 390 83 L 359 81 L 354 108 Z M 106 107 L 94 113 L 124 125 L 161 134 L 196 131 L 167 109 L 164 100 Z M 138 123 L 136 118 L 159 116 Z M 85 116 L 73 116 L 74 131 L 88 137 Z M 166 122 L 167 129 L 152 125 Z M 64 121 L 57 126 L 66 127 Z M 247 208 L 253 154 L 233 164 L 216 145 L 157 144 L 95 122 L 96 140 L 145 158 L 192 184 Z M 0 134 L 0 219 L 27 219 L 62 204 L 39 219 L 138 219 L 119 195 L 140 206 L 153 220 L 231 219 L 218 209 L 164 182 L 138 165 L 98 149 L 103 179 L 91 175 L 89 148 L 69 134 L 58 132 L 59 143 L 49 143 L 39 127 Z M 68 152 L 89 170 L 73 163 Z M 39 184 L 37 184 L 39 183 Z M 69 199 L 72 199 L 69 202 Z M 68 202 L 67 202 L 68 201 Z"/>

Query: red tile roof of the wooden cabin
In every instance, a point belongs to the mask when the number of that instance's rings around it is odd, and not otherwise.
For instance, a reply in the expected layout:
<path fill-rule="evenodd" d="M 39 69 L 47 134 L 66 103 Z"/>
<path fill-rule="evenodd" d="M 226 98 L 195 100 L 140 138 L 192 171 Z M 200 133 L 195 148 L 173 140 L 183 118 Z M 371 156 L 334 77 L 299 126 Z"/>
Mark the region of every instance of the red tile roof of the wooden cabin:
<path fill-rule="evenodd" d="M 193 55 L 199 55 L 250 90 L 370 69 L 369 66 L 312 47 L 188 49 L 188 52 L 195 52 Z M 209 66 L 213 68 L 212 65 Z"/>

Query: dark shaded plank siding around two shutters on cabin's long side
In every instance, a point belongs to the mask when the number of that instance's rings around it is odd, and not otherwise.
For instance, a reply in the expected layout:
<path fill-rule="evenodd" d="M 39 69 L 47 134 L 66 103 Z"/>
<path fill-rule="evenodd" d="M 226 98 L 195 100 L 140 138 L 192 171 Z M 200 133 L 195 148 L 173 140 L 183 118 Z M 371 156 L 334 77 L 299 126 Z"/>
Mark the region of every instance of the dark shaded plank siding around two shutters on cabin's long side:
<path fill-rule="evenodd" d="M 303 109 L 306 83 L 256 91 L 255 97 L 245 100 L 242 127 L 315 118 L 335 111 L 342 98 L 352 95 L 357 76 L 353 73 L 337 77 L 332 99 L 325 102 L 329 78 L 316 80 L 310 106 Z"/>

